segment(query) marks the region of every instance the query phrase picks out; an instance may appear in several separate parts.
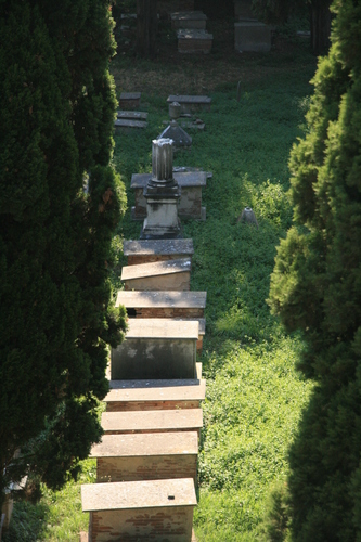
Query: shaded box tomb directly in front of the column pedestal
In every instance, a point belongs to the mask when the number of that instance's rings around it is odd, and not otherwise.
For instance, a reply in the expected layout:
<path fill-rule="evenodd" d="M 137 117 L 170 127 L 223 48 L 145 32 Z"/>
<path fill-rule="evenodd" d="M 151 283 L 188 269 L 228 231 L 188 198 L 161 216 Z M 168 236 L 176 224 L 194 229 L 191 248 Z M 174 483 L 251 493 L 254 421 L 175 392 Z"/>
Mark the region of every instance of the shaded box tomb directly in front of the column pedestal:
<path fill-rule="evenodd" d="M 128 266 L 153 261 L 191 259 L 194 253 L 191 238 L 125 241 L 123 253 Z"/>

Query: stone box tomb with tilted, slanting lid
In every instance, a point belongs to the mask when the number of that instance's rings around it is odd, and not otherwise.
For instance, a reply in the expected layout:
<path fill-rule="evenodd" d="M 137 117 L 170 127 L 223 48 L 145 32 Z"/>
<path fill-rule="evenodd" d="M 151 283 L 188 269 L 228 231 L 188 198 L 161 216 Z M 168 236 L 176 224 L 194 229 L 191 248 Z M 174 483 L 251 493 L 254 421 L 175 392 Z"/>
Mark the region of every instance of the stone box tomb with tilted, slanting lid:
<path fill-rule="evenodd" d="M 125 266 L 121 270 L 121 281 L 126 291 L 188 291 L 191 267 L 189 258 Z"/>

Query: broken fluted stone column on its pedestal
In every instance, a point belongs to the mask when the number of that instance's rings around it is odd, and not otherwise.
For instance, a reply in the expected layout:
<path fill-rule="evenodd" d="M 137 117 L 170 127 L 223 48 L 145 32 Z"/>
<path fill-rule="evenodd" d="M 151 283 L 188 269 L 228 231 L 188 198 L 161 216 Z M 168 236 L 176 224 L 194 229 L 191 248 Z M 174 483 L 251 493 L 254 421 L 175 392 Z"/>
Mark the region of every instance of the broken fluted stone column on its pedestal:
<path fill-rule="evenodd" d="M 144 190 L 146 218 L 140 238 L 176 238 L 181 234 L 172 144 L 171 139 L 153 140 L 152 179 Z"/>

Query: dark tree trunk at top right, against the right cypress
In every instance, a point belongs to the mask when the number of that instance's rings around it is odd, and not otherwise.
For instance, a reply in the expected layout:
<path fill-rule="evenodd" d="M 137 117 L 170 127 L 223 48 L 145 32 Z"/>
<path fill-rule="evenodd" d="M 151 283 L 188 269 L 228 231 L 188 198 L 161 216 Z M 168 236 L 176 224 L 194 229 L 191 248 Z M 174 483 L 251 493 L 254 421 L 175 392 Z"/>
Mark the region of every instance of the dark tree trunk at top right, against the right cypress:
<path fill-rule="evenodd" d="M 311 48 L 314 54 L 325 54 L 330 48 L 330 2 L 313 1 L 310 4 Z"/>

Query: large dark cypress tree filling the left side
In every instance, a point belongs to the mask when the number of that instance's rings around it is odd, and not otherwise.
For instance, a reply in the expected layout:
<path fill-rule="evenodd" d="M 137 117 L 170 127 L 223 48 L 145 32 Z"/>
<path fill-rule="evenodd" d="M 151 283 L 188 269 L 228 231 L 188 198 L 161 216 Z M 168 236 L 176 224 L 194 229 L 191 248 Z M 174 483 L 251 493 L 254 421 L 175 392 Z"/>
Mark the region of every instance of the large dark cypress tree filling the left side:
<path fill-rule="evenodd" d="M 0 503 L 28 468 L 61 487 L 101 437 L 126 328 L 108 276 L 126 206 L 112 28 L 105 0 L 0 0 Z"/>

